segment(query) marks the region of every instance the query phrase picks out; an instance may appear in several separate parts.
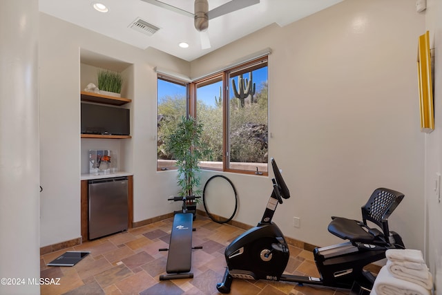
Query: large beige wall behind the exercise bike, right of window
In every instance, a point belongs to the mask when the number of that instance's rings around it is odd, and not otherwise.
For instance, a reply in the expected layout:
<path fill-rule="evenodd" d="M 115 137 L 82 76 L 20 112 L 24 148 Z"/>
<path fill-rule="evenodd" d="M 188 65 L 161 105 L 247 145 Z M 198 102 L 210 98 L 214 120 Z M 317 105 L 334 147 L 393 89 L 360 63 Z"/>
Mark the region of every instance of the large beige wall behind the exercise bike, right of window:
<path fill-rule="evenodd" d="M 269 156 L 291 189 L 274 218 L 286 236 L 320 246 L 338 242 L 327 232 L 330 216 L 360 218 L 372 191 L 387 187 L 405 194 L 391 229 L 407 247 L 423 249 L 416 39 L 424 28 L 414 0 L 343 1 L 191 62 L 191 77 L 200 77 L 272 49 Z M 236 219 L 256 224 L 271 193 L 270 179 L 229 178 L 240 198 Z M 293 227 L 294 216 L 300 229 Z"/>

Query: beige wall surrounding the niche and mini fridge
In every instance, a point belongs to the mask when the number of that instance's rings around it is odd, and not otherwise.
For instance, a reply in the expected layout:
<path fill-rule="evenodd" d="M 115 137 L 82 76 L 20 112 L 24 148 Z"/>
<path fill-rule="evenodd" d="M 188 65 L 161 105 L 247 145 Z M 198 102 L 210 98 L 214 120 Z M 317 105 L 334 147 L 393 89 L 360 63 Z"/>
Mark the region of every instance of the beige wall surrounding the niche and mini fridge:
<path fill-rule="evenodd" d="M 155 66 L 189 75 L 189 63 L 148 48 L 140 50 L 40 13 L 39 95 L 41 142 L 40 245 L 80 236 L 80 51 L 132 64 L 126 94 L 133 99 L 131 144 L 125 167 L 134 173 L 134 220 L 173 210 L 175 175 L 156 171 Z M 133 68 L 132 68 L 133 67 Z"/>

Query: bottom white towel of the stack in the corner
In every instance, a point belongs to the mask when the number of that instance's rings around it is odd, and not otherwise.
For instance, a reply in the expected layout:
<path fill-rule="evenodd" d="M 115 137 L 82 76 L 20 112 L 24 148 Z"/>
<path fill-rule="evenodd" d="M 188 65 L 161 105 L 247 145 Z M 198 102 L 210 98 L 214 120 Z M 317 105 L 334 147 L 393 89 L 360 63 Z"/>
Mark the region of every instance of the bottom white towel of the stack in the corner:
<path fill-rule="evenodd" d="M 374 281 L 372 293 L 376 295 L 431 295 L 431 291 L 408 280 L 395 278 L 387 269 L 382 267 Z"/>

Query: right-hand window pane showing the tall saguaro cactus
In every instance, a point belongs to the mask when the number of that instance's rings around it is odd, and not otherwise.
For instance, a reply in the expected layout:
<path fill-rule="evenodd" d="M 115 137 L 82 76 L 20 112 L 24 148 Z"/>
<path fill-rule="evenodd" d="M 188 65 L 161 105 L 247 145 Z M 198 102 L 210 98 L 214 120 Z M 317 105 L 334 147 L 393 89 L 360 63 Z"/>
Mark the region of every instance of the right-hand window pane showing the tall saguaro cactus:
<path fill-rule="evenodd" d="M 229 70 L 227 169 L 267 173 L 267 59 Z"/>

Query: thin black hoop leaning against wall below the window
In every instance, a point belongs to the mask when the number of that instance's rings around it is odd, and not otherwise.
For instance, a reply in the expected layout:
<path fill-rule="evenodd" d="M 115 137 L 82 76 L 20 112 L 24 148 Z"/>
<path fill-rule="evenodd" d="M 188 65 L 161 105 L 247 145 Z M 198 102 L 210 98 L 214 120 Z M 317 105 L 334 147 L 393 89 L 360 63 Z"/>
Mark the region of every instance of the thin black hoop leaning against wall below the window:
<path fill-rule="evenodd" d="M 229 222 L 238 207 L 235 186 L 224 175 L 213 175 L 204 184 L 202 202 L 211 220 L 218 223 Z"/>

